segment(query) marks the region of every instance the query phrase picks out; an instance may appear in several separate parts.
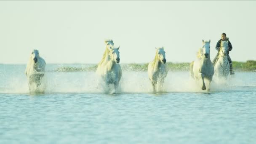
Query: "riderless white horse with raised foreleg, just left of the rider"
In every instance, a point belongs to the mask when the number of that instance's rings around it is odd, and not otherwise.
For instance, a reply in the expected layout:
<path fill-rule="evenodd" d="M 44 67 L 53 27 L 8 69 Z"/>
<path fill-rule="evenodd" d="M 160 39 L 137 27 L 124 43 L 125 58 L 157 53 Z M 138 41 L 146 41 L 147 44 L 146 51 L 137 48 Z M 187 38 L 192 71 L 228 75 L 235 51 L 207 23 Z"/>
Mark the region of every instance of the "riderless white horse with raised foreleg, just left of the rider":
<path fill-rule="evenodd" d="M 211 40 L 203 40 L 203 47 L 199 49 L 197 59 L 190 64 L 190 76 L 195 80 L 202 80 L 202 90 L 206 89 L 205 79 L 209 80 L 208 91 L 214 75 L 214 67 L 210 59 L 210 42 Z"/>

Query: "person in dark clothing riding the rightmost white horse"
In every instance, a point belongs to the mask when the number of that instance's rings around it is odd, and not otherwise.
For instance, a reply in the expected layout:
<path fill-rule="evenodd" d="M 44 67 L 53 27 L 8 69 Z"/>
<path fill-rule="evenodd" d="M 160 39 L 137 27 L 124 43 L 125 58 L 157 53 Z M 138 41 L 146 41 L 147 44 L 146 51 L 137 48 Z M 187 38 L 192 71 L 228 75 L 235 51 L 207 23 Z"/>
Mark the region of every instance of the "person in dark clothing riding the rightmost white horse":
<path fill-rule="evenodd" d="M 226 34 L 225 33 L 222 33 L 221 34 L 221 39 L 218 41 L 218 43 L 216 44 L 216 50 L 218 51 L 216 57 L 213 59 L 213 65 L 215 65 L 216 61 L 218 61 L 218 57 L 219 57 L 219 50 L 220 50 L 220 47 L 221 47 L 221 41 L 226 41 L 228 40 L 229 41 L 229 38 L 226 37 Z M 232 50 L 232 45 L 229 41 L 229 51 Z M 228 56 L 227 56 L 227 59 L 229 61 L 229 71 L 230 71 L 230 75 L 234 75 L 235 72 L 233 71 L 233 66 L 232 66 L 232 60 L 229 56 L 229 51 L 228 51 Z"/>

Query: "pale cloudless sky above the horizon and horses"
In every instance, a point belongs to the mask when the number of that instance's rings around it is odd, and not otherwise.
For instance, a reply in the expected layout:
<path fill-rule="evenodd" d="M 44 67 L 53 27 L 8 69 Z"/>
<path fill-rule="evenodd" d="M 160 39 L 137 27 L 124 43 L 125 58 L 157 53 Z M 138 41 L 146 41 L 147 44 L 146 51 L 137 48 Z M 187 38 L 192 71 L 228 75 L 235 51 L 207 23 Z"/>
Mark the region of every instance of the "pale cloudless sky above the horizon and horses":
<path fill-rule="evenodd" d="M 211 39 L 211 60 L 225 32 L 233 61 L 256 60 L 256 1 L 0 1 L 0 63 L 26 64 L 33 49 L 46 63 L 101 60 L 105 39 L 120 63 L 146 63 L 155 47 L 168 62 L 191 62 Z"/>

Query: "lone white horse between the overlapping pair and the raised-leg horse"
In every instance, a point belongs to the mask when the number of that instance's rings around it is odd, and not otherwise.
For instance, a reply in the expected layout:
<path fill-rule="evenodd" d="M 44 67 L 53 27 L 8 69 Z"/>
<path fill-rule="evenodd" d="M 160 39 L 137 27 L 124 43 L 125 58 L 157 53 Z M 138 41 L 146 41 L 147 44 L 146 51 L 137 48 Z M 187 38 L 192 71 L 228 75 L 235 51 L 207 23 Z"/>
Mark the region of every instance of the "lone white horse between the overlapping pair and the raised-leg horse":
<path fill-rule="evenodd" d="M 156 48 L 155 59 L 148 65 L 147 73 L 149 80 L 153 86 L 153 91 L 161 91 L 165 77 L 168 73 L 166 67 L 165 51 L 164 48 Z"/>

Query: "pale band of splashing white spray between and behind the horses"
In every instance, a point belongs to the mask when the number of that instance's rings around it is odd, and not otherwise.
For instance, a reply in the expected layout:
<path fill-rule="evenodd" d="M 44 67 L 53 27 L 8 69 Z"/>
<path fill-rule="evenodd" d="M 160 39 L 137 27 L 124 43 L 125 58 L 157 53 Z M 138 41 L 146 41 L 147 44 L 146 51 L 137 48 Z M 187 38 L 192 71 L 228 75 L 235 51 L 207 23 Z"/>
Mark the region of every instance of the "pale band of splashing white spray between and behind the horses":
<path fill-rule="evenodd" d="M 255 72 L 237 72 L 227 83 L 211 84 L 211 92 L 248 91 L 256 88 Z M 29 93 L 23 71 L 1 72 L 0 93 Z M 214 81 L 214 77 L 213 77 Z M 101 80 L 95 72 L 45 72 L 45 93 L 104 93 Z M 207 92 L 189 77 L 189 72 L 168 72 L 164 92 Z M 123 72 L 119 93 L 152 93 L 147 72 Z"/>

